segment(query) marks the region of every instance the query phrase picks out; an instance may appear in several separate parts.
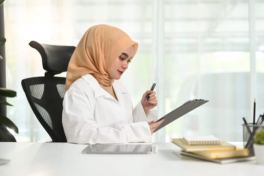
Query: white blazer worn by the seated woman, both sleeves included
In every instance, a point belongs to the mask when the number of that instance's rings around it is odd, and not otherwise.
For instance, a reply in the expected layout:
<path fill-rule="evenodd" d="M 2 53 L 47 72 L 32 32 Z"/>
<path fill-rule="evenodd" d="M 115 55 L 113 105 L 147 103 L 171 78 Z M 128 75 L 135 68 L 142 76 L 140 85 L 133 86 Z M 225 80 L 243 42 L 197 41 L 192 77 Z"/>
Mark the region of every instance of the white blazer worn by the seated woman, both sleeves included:
<path fill-rule="evenodd" d="M 141 102 L 133 110 L 125 87 L 113 82 L 117 99 L 106 92 L 91 75 L 74 81 L 63 100 L 62 125 L 67 142 L 127 143 L 151 142 L 147 121 L 157 119 L 155 110 L 145 114 Z"/>

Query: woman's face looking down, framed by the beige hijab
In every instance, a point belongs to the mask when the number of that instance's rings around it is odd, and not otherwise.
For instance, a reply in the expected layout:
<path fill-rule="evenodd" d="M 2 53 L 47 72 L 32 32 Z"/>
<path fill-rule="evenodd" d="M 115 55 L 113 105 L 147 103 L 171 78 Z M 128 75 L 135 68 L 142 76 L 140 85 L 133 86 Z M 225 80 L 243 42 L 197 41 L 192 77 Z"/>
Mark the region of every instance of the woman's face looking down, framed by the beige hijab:
<path fill-rule="evenodd" d="M 134 53 L 133 46 L 130 46 L 126 49 L 120 56 L 114 61 L 114 63 L 109 68 L 109 75 L 114 79 L 120 79 L 121 75 L 128 68 L 128 64 L 132 61 Z"/>

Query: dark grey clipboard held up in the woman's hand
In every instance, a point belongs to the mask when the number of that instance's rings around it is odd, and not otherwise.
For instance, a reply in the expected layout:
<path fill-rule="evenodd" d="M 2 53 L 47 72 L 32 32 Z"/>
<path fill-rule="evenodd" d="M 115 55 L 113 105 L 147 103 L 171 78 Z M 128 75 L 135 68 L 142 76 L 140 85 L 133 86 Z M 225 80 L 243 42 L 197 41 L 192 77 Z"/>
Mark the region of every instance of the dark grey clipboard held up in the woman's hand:
<path fill-rule="evenodd" d="M 161 129 L 162 127 L 166 126 L 167 124 L 169 124 L 170 122 L 182 117 L 183 115 L 189 113 L 190 111 L 196 109 L 197 107 L 205 104 L 209 102 L 209 100 L 189 100 L 187 102 L 185 102 L 182 106 L 174 109 L 173 111 L 171 111 L 170 113 L 166 114 L 165 116 L 161 117 L 160 119 L 158 119 L 156 122 L 160 121 L 161 119 L 165 119 L 164 122 L 162 124 L 160 124 L 154 132 L 158 131 L 159 129 Z M 155 123 L 156 123 L 155 122 Z"/>

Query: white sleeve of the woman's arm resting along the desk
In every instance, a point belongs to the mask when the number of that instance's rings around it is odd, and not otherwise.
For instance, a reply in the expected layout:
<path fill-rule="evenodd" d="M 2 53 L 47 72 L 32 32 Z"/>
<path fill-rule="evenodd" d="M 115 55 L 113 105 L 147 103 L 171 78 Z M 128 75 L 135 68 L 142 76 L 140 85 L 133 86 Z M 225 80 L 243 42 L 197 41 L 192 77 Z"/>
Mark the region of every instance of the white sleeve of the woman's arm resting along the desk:
<path fill-rule="evenodd" d="M 84 92 L 74 86 L 65 93 L 62 124 L 67 142 L 94 144 L 152 141 L 146 122 L 116 127 L 98 126 L 94 117 L 95 106 L 96 100 L 91 89 Z"/>

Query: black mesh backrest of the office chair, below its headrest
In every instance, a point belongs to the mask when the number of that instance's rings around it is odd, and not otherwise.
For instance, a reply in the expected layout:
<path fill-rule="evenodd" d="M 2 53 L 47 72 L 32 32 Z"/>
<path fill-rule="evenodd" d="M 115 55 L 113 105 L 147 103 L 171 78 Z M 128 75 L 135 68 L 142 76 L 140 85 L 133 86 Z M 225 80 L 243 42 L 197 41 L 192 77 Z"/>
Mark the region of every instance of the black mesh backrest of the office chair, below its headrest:
<path fill-rule="evenodd" d="M 61 123 L 64 77 L 31 77 L 22 80 L 31 109 L 53 142 L 66 142 Z"/>

